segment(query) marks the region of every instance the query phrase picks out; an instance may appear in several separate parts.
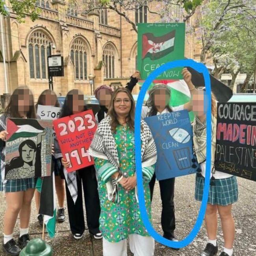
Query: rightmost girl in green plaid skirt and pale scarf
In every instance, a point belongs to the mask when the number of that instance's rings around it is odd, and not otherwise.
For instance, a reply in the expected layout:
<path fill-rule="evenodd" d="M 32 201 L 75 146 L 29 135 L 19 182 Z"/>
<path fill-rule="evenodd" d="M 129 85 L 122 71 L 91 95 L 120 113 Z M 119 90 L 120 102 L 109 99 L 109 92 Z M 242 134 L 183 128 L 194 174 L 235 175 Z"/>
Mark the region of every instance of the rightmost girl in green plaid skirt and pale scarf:
<path fill-rule="evenodd" d="M 193 143 L 201 173 L 196 176 L 195 199 L 202 201 L 206 172 L 206 109 L 204 109 L 204 91 L 198 90 L 193 97 L 193 111 L 196 114 L 193 124 Z M 200 256 L 213 256 L 218 252 L 217 245 L 217 212 L 221 218 L 224 237 L 224 249 L 220 256 L 234 256 L 233 243 L 235 224 L 232 206 L 238 200 L 236 176 L 221 173 L 214 169 L 217 130 L 217 102 L 211 95 L 211 182 L 208 204 L 205 213 L 205 224 L 208 243 Z"/>

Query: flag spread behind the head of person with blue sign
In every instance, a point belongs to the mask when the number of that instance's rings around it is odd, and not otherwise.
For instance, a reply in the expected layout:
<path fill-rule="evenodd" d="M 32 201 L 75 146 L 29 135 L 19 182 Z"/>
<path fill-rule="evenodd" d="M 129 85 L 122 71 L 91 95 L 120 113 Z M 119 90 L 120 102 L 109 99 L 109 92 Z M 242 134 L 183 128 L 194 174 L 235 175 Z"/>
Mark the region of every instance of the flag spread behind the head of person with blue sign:
<path fill-rule="evenodd" d="M 144 81 L 143 81 L 144 82 Z M 139 82 L 139 85 L 143 85 L 143 82 Z M 171 88 L 171 100 L 169 102 L 170 106 L 176 107 L 189 102 L 191 98 L 190 91 L 184 80 L 154 80 L 148 90 L 152 89 L 157 83 L 163 83 Z M 189 112 L 190 121 L 194 120 L 193 112 Z"/>

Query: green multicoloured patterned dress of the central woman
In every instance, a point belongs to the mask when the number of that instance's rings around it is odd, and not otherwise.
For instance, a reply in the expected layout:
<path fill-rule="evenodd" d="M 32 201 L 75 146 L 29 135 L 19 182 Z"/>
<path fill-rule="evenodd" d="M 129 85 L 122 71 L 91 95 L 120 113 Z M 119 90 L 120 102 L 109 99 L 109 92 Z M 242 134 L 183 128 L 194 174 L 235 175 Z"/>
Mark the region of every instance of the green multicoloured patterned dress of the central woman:
<path fill-rule="evenodd" d="M 129 127 L 117 126 L 113 134 L 117 145 L 120 171 L 124 177 L 134 176 L 135 173 L 135 143 L 134 132 Z M 119 202 L 108 200 L 106 182 L 117 172 L 110 161 L 94 158 L 98 174 L 98 191 L 100 197 L 100 231 L 103 237 L 112 243 L 127 239 L 130 234 L 149 236 L 145 230 L 139 204 L 136 200 L 135 189 L 125 191 L 119 185 Z M 143 167 L 143 186 L 148 217 L 151 221 L 150 190 L 148 182 L 154 174 L 154 165 Z"/>

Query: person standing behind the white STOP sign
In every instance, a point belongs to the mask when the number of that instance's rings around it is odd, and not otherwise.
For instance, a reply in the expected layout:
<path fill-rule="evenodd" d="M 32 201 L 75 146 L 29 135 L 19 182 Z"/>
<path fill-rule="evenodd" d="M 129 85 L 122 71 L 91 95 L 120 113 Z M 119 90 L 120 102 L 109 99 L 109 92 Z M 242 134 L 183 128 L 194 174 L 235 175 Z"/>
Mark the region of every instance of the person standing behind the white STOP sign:
<path fill-rule="evenodd" d="M 37 104 L 35 105 L 36 111 L 37 111 L 38 105 L 59 107 L 59 101 L 56 93 L 50 89 L 46 89 L 38 97 Z M 58 204 L 59 204 L 59 209 L 57 211 L 57 221 L 58 223 L 62 223 L 63 221 L 65 221 L 65 209 L 64 209 L 65 179 L 64 177 L 61 177 L 61 168 L 62 168 L 61 159 L 60 158 L 56 159 L 54 156 L 52 156 L 52 160 L 53 160 L 54 175 L 55 175 L 55 188 L 56 188 L 56 194 L 58 197 Z M 40 193 L 37 190 L 35 190 L 35 204 L 38 212 L 39 204 L 40 204 Z M 43 215 L 38 214 L 37 219 L 39 221 L 39 224 L 43 226 Z"/>

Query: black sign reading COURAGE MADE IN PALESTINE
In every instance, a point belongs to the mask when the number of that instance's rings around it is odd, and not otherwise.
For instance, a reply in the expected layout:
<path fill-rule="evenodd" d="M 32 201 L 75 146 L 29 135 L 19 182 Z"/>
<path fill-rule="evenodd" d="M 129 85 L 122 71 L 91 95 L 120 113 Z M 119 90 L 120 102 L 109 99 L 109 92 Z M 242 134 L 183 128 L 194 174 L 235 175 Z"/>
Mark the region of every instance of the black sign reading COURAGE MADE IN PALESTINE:
<path fill-rule="evenodd" d="M 215 170 L 256 181 L 256 103 L 218 103 Z"/>

